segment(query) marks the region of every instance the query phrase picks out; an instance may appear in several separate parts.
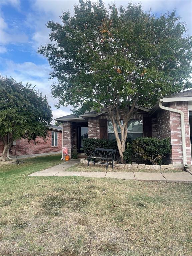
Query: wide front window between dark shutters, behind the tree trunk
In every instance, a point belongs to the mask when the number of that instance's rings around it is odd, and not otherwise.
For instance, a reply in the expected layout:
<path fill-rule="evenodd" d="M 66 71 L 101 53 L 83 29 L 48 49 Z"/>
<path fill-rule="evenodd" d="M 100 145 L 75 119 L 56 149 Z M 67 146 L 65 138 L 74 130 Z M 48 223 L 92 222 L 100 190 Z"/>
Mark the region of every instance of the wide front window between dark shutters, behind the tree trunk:
<path fill-rule="evenodd" d="M 120 122 L 121 124 L 123 124 L 123 120 L 120 120 Z M 115 139 L 112 121 L 110 120 L 107 121 L 107 129 L 108 129 L 108 140 Z M 121 139 L 121 130 L 119 125 L 117 125 L 117 130 L 119 133 L 119 138 Z M 127 127 L 127 138 L 134 140 L 138 137 L 143 137 L 143 120 L 131 119 Z"/>

